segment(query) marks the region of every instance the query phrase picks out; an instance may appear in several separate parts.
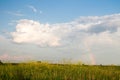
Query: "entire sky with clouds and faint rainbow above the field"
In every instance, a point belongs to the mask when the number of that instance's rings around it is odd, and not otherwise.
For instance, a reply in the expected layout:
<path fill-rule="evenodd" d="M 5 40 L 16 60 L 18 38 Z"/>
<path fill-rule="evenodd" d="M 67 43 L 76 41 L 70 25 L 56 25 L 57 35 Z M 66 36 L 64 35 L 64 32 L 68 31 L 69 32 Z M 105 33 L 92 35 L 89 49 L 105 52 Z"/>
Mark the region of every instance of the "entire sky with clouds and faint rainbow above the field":
<path fill-rule="evenodd" d="M 120 65 L 119 0 L 0 0 L 0 60 Z"/>

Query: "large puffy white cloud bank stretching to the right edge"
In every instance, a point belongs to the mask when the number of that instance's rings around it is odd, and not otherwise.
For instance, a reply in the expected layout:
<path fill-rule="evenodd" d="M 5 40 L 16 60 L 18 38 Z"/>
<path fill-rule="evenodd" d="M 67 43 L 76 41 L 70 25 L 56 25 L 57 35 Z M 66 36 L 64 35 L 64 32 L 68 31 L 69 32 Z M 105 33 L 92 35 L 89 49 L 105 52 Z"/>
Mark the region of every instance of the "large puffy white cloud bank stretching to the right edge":
<path fill-rule="evenodd" d="M 68 23 L 41 24 L 22 19 L 12 32 L 16 43 L 32 43 L 40 46 L 68 44 L 117 44 L 119 41 L 120 14 L 80 17 Z M 118 43 L 119 44 L 119 43 Z"/>

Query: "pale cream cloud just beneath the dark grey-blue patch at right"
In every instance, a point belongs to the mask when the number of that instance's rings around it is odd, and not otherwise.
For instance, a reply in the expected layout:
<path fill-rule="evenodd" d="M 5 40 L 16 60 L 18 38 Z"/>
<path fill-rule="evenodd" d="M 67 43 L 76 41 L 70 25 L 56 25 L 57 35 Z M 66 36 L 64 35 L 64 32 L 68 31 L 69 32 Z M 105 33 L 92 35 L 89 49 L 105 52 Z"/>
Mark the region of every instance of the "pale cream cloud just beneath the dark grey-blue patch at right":
<path fill-rule="evenodd" d="M 119 45 L 120 38 L 116 33 L 110 33 L 109 31 L 102 32 L 100 34 L 88 35 L 84 38 L 84 43 L 87 43 L 89 46 L 94 45 Z"/>

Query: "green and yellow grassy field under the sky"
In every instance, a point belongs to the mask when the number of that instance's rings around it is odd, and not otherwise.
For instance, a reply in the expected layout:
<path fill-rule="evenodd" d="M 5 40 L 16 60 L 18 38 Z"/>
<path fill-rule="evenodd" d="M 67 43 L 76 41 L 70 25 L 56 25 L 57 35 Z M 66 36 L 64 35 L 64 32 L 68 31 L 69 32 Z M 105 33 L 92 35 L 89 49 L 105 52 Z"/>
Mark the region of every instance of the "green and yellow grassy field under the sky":
<path fill-rule="evenodd" d="M 4 64 L 0 80 L 120 80 L 120 66 Z"/>

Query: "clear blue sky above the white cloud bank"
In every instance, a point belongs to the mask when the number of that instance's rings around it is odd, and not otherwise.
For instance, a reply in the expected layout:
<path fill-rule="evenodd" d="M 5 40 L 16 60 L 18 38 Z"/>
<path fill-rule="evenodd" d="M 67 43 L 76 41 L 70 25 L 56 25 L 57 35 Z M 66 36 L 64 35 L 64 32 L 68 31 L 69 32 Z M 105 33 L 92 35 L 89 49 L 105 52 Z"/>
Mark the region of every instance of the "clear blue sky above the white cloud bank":
<path fill-rule="evenodd" d="M 1 0 L 0 5 L 3 30 L 8 27 L 6 23 L 24 18 L 42 23 L 61 23 L 79 16 L 102 16 L 120 12 L 119 0 Z M 37 12 L 34 13 L 28 6 L 33 6 Z"/>

